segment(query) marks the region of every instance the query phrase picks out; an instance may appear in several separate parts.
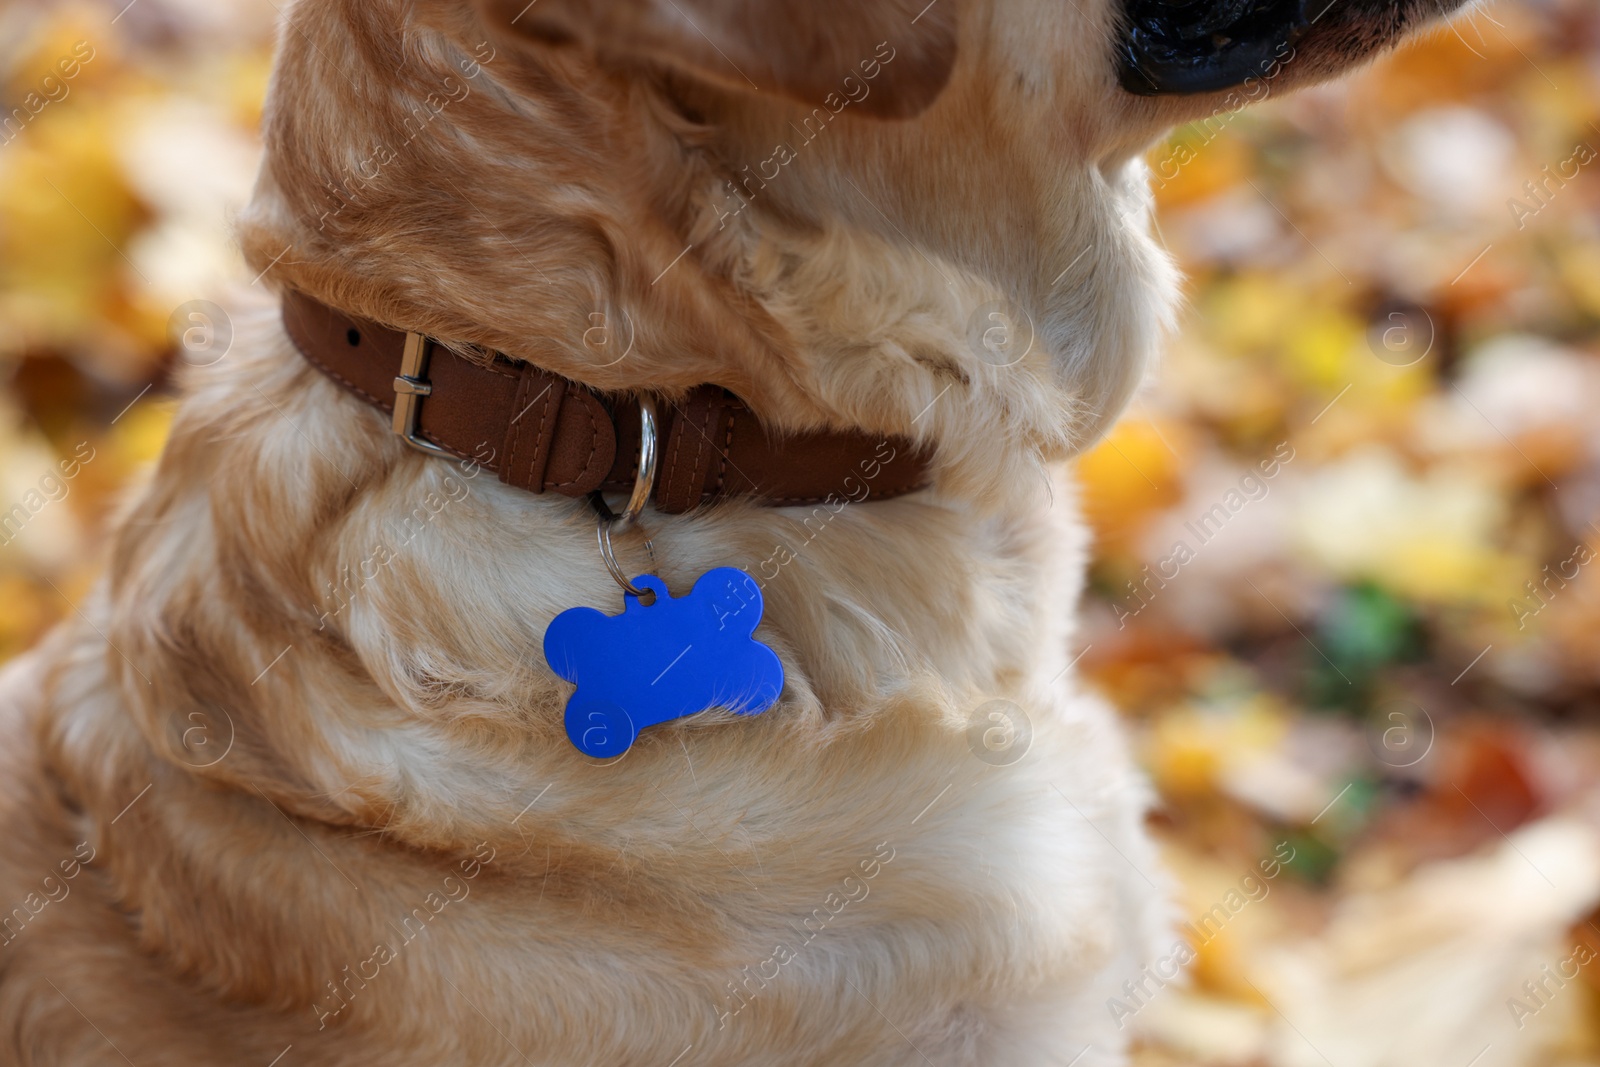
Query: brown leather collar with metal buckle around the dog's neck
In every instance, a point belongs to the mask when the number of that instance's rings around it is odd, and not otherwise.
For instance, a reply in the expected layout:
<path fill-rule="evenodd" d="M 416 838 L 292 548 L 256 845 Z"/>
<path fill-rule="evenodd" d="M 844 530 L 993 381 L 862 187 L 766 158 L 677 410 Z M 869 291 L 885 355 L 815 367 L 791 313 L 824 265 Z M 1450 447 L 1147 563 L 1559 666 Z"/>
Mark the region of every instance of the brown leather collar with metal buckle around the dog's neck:
<path fill-rule="evenodd" d="M 283 326 L 307 362 L 357 397 L 390 414 L 398 398 L 395 432 L 424 451 L 475 459 L 531 493 L 634 488 L 640 435 L 634 403 L 501 355 L 486 365 L 467 360 L 424 338 L 413 338 L 408 352 L 405 331 L 354 318 L 304 293 L 285 293 Z M 720 386 L 698 386 L 683 403 L 666 405 L 659 434 L 654 504 L 667 514 L 726 496 L 784 507 L 882 501 L 928 485 L 930 456 L 906 438 L 859 432 L 774 438 Z"/>

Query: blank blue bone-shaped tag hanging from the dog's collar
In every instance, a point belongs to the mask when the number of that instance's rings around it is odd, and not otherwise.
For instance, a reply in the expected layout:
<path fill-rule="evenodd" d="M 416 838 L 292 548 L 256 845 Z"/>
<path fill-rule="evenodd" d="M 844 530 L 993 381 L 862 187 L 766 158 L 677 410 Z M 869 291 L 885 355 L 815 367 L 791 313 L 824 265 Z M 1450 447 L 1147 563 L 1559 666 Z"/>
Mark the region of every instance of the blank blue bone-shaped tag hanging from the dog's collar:
<path fill-rule="evenodd" d="M 784 667 L 752 633 L 762 590 L 744 571 L 718 566 L 672 598 L 654 574 L 634 579 L 656 600 L 624 595 L 622 614 L 568 608 L 544 632 L 544 659 L 578 691 L 566 736 L 595 758 L 627 752 L 645 726 L 710 707 L 758 715 L 778 702 Z"/>

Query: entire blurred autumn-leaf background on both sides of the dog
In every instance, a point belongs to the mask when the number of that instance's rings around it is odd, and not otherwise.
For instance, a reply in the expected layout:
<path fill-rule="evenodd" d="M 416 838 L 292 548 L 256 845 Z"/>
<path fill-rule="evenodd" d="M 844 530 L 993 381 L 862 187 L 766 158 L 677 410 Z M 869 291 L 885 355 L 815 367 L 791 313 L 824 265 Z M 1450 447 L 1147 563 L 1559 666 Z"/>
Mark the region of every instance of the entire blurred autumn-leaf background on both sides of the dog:
<path fill-rule="evenodd" d="M 251 282 L 275 19 L 0 8 L 0 659 Z M 1600 1064 L 1597 123 L 1600 8 L 1496 2 L 1150 154 L 1189 306 L 1080 464 L 1077 649 L 1198 953 L 1107 1005 L 1146 1064 Z"/>

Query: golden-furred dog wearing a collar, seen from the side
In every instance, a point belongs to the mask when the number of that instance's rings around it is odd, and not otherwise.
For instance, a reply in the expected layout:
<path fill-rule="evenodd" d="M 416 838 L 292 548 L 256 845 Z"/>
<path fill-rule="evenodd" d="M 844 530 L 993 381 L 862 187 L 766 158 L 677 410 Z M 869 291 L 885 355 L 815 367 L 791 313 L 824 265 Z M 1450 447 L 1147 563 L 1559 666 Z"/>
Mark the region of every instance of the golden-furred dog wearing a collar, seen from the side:
<path fill-rule="evenodd" d="M 1141 154 L 1450 6 L 294 3 L 261 278 L 0 686 L 5 1061 L 1125 1062 L 1174 934 L 1066 462 L 1171 322 Z M 574 747 L 552 621 L 717 568 L 776 702 Z"/>

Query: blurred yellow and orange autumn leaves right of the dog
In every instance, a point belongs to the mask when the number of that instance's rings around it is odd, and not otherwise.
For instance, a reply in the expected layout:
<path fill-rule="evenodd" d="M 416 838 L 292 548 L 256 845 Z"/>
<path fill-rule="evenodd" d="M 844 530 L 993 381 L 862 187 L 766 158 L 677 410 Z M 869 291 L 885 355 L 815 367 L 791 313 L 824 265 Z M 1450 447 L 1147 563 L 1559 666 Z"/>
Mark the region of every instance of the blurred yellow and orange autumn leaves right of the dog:
<path fill-rule="evenodd" d="M 1600 945 L 1597 824 L 1568 822 L 1600 781 L 1597 122 L 1595 6 L 1496 5 L 1152 154 L 1186 160 L 1157 195 L 1190 312 L 1078 466 L 1083 665 L 1133 720 L 1189 915 L 1296 849 L 1141 1013 L 1152 1062 L 1600 1049 L 1589 968 L 1536 1017 L 1507 1003 Z M 1520 921 L 1486 918 L 1502 862 Z M 1350 915 L 1438 880 L 1410 942 L 1330 965 L 1371 936 Z"/>

